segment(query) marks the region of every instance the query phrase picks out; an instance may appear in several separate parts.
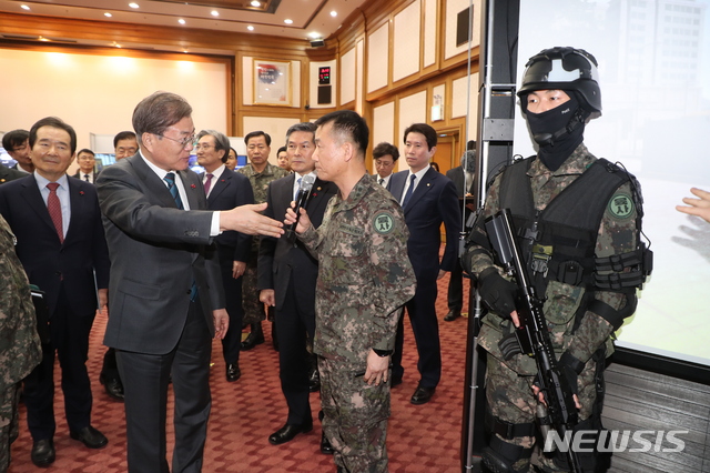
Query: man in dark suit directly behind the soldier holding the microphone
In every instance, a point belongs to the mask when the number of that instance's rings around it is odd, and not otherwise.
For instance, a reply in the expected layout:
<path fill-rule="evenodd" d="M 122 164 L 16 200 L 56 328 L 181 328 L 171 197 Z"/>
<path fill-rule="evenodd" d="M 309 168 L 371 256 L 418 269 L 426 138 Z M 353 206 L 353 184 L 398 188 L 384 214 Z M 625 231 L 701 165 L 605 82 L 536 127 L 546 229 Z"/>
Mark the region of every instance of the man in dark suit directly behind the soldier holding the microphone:
<path fill-rule="evenodd" d="M 313 123 L 296 123 L 286 132 L 288 163 L 293 173 L 268 184 L 264 215 L 283 219 L 291 201 L 295 200 L 300 184 L 306 177 L 315 177 L 315 130 Z M 337 189 L 331 182 L 315 179 L 305 205 L 311 223 L 317 228 L 323 212 Z M 312 365 L 306 349 L 315 332 L 315 282 L 318 263 L 295 234 L 278 240 L 265 238 L 258 250 L 260 300 L 275 306 L 278 336 L 278 371 L 281 390 L 288 405 L 286 424 L 268 436 L 280 445 L 301 432 L 313 427 L 308 403 L 308 374 Z M 322 450 L 323 450 L 322 444 Z M 326 446 L 326 450 L 329 445 Z M 332 453 L 332 452 L 324 452 Z"/>

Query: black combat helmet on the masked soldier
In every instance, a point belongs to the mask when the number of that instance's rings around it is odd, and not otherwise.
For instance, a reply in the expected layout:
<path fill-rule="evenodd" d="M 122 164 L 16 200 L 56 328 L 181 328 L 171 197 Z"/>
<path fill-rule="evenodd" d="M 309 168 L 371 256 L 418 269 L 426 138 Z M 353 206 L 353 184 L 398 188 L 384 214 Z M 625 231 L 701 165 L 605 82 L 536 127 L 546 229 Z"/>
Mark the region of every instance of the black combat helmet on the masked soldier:
<path fill-rule="evenodd" d="M 535 90 L 559 89 L 574 91 L 589 118 L 601 115 L 601 91 L 597 60 L 584 49 L 558 47 L 544 49 L 531 57 L 523 73 L 518 97 L 523 99 Z M 520 100 L 523 111 L 527 103 Z"/>

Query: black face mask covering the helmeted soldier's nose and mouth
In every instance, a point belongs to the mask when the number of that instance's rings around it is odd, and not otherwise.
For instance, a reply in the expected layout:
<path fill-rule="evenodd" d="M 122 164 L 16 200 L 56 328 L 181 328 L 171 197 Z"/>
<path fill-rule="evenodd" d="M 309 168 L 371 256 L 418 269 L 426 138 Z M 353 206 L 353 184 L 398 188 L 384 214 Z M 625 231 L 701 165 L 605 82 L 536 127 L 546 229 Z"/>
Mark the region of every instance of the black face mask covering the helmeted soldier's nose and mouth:
<path fill-rule="evenodd" d="M 557 171 L 584 141 L 585 117 L 574 93 L 569 101 L 542 113 L 526 109 L 532 139 L 540 145 L 538 157 L 550 171 Z"/>

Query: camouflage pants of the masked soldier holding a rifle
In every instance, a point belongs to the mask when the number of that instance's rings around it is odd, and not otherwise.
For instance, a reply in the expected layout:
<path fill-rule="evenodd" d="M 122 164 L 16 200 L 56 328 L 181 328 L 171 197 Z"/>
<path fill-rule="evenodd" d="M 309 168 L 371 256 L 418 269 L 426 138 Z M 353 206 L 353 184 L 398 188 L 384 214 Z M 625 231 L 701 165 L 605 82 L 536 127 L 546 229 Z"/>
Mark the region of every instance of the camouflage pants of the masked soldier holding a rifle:
<path fill-rule="evenodd" d="M 525 355 L 518 355 L 525 356 Z M 597 399 L 595 386 L 596 363 L 592 360 L 585 365 L 585 370 L 577 379 L 577 389 L 579 390 L 579 402 L 581 410 L 579 419 L 588 419 L 594 409 Z M 488 407 L 493 411 L 495 417 L 513 424 L 525 424 L 535 422 L 535 412 L 537 401 L 532 395 L 532 382 L 535 376 L 523 376 L 508 368 L 505 363 L 496 358 L 488 355 L 486 368 L 486 400 Z M 535 436 L 520 436 L 514 439 L 500 440 L 514 445 L 531 449 L 535 446 Z M 565 472 L 566 469 L 559 469 L 552 457 L 540 454 L 538 456 L 540 466 L 546 472 Z M 515 463 L 516 471 L 530 470 L 530 461 L 523 459 Z"/>

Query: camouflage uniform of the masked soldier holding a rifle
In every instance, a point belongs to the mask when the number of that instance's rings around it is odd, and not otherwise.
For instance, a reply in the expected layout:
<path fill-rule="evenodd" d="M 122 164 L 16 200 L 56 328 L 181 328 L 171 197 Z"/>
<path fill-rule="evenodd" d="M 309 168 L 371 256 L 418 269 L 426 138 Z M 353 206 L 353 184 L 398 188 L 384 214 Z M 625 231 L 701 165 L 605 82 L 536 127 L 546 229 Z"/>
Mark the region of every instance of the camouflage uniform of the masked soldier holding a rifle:
<path fill-rule="evenodd" d="M 596 158 L 589 153 L 584 144 L 580 144 L 554 172 L 549 171 L 539 159 L 534 160 L 527 171 L 527 177 L 532 191 L 535 209 L 542 211 L 594 161 Z M 500 210 L 498 207 L 500 182 L 501 175 L 498 175 L 488 190 L 486 205 L 483 215 L 479 217 L 479 222 Z M 607 258 L 636 249 L 637 212 L 631 195 L 628 182 L 613 193 L 599 227 L 595 250 L 597 258 Z M 623 204 L 630 204 L 630 208 L 626 211 L 616 209 L 615 201 L 619 203 L 620 200 Z M 474 232 L 479 232 L 484 238 L 487 238 L 483 225 L 477 225 Z M 475 275 L 494 265 L 489 255 L 476 251 L 478 249 L 480 246 L 473 245 L 464 255 L 468 259 L 468 268 Z M 597 397 L 595 389 L 597 361 L 592 355 L 605 344 L 607 356 L 613 350 L 610 340 L 613 328 L 598 314 L 587 310 L 579 326 L 574 330 L 575 313 L 582 303 L 584 294 L 584 286 L 550 280 L 545 293 L 544 306 L 545 316 L 550 326 L 550 340 L 558 359 L 561 353 L 569 351 L 571 355 L 585 363 L 585 369 L 577 380 L 578 396 L 581 403 L 580 421 L 590 417 Z M 596 290 L 594 298 L 606 302 L 616 310 L 623 308 L 627 303 L 626 296 L 618 292 Z M 489 409 L 494 416 L 503 421 L 524 424 L 535 420 L 537 401 L 532 396 L 531 385 L 537 374 L 537 368 L 535 359 L 526 354 L 517 354 L 510 360 L 504 361 L 498 342 L 505 334 L 513 331 L 511 326 L 513 322 L 509 315 L 501 316 L 495 312 L 488 312 L 483 320 L 479 343 L 488 352 L 486 395 Z M 535 444 L 535 436 L 518 436 L 506 440 L 506 442 L 528 449 Z M 549 459 L 542 457 L 542 463 L 546 471 L 566 471 L 555 466 Z M 526 471 L 529 467 L 529 459 L 519 460 L 515 466 L 516 471 Z"/>

